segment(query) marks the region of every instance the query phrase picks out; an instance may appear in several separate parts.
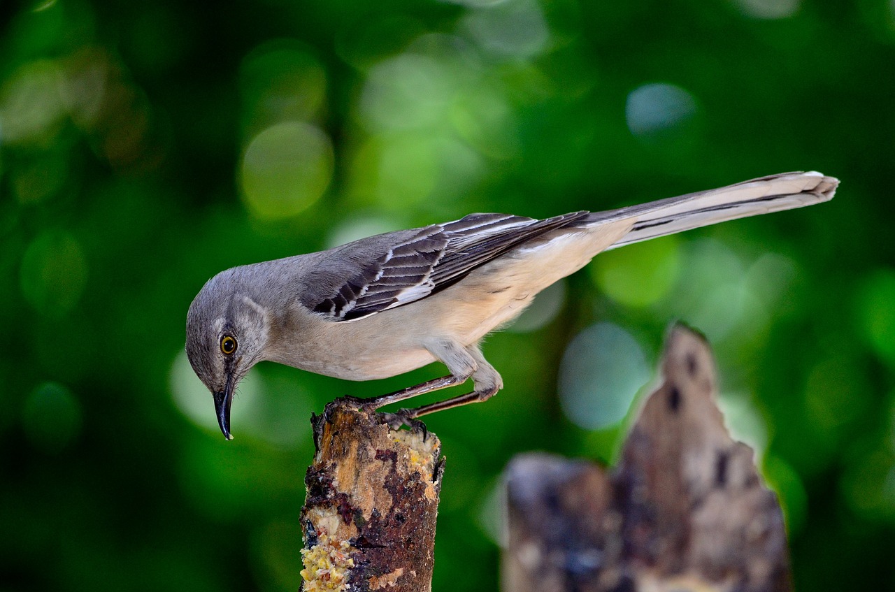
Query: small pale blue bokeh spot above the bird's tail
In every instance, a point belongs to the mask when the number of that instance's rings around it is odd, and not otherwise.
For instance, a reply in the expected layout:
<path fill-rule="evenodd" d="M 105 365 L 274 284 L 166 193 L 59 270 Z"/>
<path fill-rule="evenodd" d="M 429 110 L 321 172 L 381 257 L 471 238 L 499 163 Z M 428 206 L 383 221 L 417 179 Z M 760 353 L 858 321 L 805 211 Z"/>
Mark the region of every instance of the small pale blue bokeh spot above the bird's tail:
<path fill-rule="evenodd" d="M 696 109 L 696 99 L 685 89 L 657 82 L 631 91 L 625 117 L 631 133 L 648 138 L 686 123 Z"/>

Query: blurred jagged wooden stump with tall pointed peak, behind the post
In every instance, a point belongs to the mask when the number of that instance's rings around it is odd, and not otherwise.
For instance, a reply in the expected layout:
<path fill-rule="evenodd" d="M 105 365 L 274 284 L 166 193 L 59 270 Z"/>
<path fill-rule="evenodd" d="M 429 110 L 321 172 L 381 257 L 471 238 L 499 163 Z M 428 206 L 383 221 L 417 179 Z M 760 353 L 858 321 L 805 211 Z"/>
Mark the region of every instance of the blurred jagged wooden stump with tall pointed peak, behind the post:
<path fill-rule="evenodd" d="M 616 469 L 511 462 L 506 592 L 791 588 L 777 497 L 724 427 L 708 344 L 674 327 L 662 370 Z"/>

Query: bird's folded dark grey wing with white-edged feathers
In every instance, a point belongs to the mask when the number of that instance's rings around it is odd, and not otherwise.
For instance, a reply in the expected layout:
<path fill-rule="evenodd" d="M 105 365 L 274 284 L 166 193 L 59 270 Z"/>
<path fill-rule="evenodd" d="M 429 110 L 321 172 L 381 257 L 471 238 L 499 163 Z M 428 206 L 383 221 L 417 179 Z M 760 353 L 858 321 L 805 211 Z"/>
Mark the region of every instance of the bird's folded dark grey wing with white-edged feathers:
<path fill-rule="evenodd" d="M 471 214 L 454 222 L 355 241 L 333 249 L 320 261 L 318 270 L 326 271 L 328 285 L 306 294 L 303 304 L 334 321 L 393 309 L 439 292 L 522 243 L 575 225 L 585 216 L 586 212 L 576 212 L 535 220 Z M 345 266 L 349 260 L 352 265 Z M 332 274 L 334 262 L 341 269 L 337 275 Z"/>

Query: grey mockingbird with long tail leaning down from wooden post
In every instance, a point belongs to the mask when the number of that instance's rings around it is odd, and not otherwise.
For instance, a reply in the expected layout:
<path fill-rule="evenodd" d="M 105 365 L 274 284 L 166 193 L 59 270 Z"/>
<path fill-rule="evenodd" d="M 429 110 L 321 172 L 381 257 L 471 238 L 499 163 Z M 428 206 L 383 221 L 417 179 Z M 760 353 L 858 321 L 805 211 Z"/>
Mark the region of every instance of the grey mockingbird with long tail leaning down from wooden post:
<path fill-rule="evenodd" d="M 386 414 L 390 425 L 418 427 L 423 415 L 497 393 L 503 381 L 482 339 L 601 251 L 821 203 L 838 185 L 822 173 L 781 173 L 602 212 L 471 214 L 235 266 L 192 300 L 187 357 L 227 440 L 236 385 L 261 360 L 354 381 L 447 367 L 447 376 L 358 400 L 367 410 L 472 380 L 468 393 Z"/>

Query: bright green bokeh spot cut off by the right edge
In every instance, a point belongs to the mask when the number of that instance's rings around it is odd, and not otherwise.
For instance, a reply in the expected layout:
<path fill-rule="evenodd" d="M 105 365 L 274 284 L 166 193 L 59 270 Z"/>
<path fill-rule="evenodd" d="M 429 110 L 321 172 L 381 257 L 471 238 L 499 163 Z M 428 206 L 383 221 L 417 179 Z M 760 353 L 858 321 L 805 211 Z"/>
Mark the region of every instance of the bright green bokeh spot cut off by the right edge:
<path fill-rule="evenodd" d="M 874 352 L 895 367 L 895 271 L 881 269 L 865 279 L 857 294 L 857 321 Z"/>

